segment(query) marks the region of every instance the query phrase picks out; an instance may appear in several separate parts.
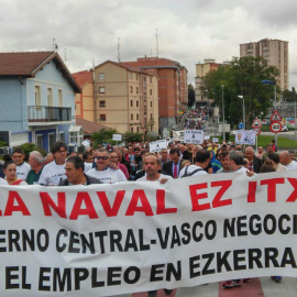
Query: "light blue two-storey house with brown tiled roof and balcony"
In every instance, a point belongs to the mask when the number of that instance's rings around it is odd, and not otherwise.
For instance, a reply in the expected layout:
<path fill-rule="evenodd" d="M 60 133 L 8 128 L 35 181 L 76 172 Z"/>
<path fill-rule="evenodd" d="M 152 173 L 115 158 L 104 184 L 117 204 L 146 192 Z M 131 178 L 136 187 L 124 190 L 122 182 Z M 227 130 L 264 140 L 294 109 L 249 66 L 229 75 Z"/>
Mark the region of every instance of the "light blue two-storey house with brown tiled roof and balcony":
<path fill-rule="evenodd" d="M 51 151 L 57 140 L 79 145 L 79 92 L 56 52 L 0 53 L 0 138 L 10 147 L 33 142 Z"/>

